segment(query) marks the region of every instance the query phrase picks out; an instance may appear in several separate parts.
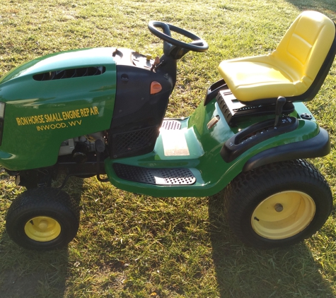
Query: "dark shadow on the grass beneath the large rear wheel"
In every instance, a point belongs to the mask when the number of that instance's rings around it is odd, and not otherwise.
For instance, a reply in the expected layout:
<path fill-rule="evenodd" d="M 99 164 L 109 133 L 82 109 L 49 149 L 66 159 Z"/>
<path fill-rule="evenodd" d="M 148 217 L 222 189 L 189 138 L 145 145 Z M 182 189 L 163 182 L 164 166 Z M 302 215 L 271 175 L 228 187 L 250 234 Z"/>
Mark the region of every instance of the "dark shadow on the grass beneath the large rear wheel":
<path fill-rule="evenodd" d="M 258 250 L 244 246 L 228 227 L 221 193 L 209 198 L 212 259 L 221 297 L 335 297 L 305 244 Z"/>

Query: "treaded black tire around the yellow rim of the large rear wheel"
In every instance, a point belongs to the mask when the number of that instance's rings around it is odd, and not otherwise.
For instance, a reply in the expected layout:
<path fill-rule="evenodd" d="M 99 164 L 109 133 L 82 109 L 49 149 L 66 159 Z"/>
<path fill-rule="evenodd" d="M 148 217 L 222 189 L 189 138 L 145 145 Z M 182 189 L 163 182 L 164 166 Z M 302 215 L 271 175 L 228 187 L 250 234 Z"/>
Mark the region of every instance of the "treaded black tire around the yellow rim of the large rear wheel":
<path fill-rule="evenodd" d="M 294 185 L 294 182 L 291 183 L 291 181 L 295 181 L 295 183 L 299 183 L 301 186 L 306 185 L 307 188 L 313 184 L 320 190 L 320 200 L 323 200 L 324 210 L 319 210 L 318 224 L 315 225 L 315 228 L 308 226 L 310 228 L 307 230 L 307 227 L 303 230 L 300 233 L 302 235 L 289 237 L 281 241 L 262 238 L 255 234 L 254 231 L 250 232 L 255 235 L 247 233 L 247 229 L 242 227 L 243 222 L 245 222 L 244 225 L 246 225 L 246 219 L 243 218 L 243 213 L 249 208 L 251 201 L 260 197 L 260 193 L 265 192 L 265 189 L 275 187 L 275 192 L 277 192 L 281 191 L 280 188 L 285 184 Z M 267 196 L 265 198 L 267 198 Z M 260 201 L 262 201 L 261 198 Z M 228 224 L 231 230 L 233 230 L 236 236 L 245 244 L 259 248 L 286 246 L 311 237 L 312 234 L 322 227 L 332 210 L 332 194 L 328 182 L 313 165 L 306 160 L 289 160 L 275 162 L 248 172 L 241 172 L 241 174 L 228 184 L 224 191 L 224 209 L 228 215 Z"/>

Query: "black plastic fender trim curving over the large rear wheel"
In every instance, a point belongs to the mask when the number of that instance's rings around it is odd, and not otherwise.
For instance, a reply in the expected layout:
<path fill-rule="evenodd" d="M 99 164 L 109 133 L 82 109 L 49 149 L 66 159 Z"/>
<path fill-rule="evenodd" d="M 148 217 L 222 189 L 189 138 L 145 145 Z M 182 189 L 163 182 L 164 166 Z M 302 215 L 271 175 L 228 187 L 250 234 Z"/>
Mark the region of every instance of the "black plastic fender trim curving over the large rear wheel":
<path fill-rule="evenodd" d="M 323 157 L 330 153 L 330 138 L 328 131 L 320 128 L 317 136 L 306 141 L 281 145 L 262 151 L 248 160 L 243 172 L 250 171 L 262 165 L 299 158 Z"/>

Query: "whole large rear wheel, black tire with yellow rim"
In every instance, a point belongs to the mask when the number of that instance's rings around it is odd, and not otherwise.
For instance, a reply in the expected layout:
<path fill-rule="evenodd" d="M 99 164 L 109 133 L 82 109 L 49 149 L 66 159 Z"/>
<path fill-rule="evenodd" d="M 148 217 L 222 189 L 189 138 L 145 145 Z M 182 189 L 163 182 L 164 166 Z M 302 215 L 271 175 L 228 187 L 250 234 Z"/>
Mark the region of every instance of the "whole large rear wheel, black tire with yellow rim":
<path fill-rule="evenodd" d="M 224 192 L 231 230 L 257 248 L 296 244 L 328 219 L 332 193 L 306 160 L 265 165 L 242 172 Z"/>

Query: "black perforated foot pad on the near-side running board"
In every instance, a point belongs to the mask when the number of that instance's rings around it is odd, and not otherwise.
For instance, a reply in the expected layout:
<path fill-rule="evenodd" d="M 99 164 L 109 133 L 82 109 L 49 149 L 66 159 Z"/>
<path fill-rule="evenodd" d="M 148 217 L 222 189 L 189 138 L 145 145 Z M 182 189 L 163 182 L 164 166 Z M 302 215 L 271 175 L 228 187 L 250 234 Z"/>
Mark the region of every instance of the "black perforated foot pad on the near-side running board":
<path fill-rule="evenodd" d="M 151 169 L 132 165 L 113 164 L 118 177 L 124 180 L 155 185 L 191 185 L 196 182 L 190 169 Z"/>

